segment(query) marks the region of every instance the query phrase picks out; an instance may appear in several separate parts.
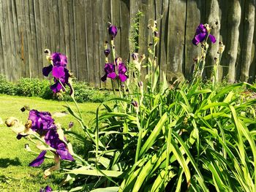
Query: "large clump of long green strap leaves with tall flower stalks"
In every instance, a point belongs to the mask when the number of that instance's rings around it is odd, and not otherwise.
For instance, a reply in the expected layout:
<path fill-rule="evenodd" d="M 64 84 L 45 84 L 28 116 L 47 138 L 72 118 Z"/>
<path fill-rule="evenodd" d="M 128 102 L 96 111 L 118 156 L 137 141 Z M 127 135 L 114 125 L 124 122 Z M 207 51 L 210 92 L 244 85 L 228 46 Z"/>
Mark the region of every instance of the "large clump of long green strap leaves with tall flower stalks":
<path fill-rule="evenodd" d="M 169 85 L 157 64 L 157 22 L 148 28 L 153 39 L 148 55 L 133 53 L 129 70 L 116 54 L 118 28 L 108 23 L 102 80 L 111 80 L 116 98 L 100 104 L 90 126 L 75 101 L 72 77 L 64 66 L 48 66 L 56 67 L 54 92 L 71 88 L 75 107 L 66 107 L 83 131 L 64 134 L 85 144 L 84 154 L 65 149 L 75 162 L 59 167 L 67 175 L 64 183 L 70 191 L 255 191 L 256 100 L 236 92 L 255 87 L 241 82 L 217 89 L 222 42 L 211 85 L 205 85 L 208 37 L 216 42 L 208 24 L 200 24 L 192 40 L 202 48 L 192 80 Z M 141 67 L 147 68 L 145 79 Z"/>

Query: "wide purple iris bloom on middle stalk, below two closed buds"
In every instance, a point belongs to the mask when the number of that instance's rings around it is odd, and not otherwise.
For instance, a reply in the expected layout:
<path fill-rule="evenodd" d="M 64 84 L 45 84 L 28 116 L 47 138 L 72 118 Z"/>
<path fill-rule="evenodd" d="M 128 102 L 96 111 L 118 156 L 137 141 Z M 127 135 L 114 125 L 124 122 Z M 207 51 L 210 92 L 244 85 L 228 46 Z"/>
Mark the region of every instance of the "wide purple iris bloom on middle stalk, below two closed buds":
<path fill-rule="evenodd" d="M 128 76 L 125 74 L 127 72 L 127 67 L 123 64 L 120 63 L 118 64 L 118 75 L 116 74 L 116 69 L 115 69 L 114 64 L 105 64 L 105 75 L 101 78 L 102 81 L 107 80 L 107 77 L 114 80 L 116 77 L 118 77 L 121 82 L 124 82 L 127 80 Z"/>

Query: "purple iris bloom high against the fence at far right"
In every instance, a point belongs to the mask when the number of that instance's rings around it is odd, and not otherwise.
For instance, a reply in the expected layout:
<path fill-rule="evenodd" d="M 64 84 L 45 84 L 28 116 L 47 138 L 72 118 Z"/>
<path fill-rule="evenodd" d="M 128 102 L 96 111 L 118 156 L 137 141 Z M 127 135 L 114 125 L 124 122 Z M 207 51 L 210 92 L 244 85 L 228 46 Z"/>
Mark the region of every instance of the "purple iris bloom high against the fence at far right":
<path fill-rule="evenodd" d="M 213 43 L 216 42 L 215 37 L 211 34 L 208 34 L 206 25 L 203 25 L 201 23 L 199 26 L 197 26 L 197 29 L 195 31 L 195 37 L 194 37 L 194 39 L 192 39 L 192 43 L 194 45 L 198 45 L 200 42 L 203 42 L 207 36 L 209 37 L 211 42 L 213 42 Z"/>

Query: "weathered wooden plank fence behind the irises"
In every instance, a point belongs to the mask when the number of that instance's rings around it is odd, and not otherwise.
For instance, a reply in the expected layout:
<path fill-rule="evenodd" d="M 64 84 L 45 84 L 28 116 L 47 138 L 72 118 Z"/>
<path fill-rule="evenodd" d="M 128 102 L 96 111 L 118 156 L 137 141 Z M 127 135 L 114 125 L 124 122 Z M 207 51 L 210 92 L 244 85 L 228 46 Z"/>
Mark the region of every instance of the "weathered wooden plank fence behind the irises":
<path fill-rule="evenodd" d="M 118 26 L 116 50 L 129 60 L 129 28 L 140 10 L 139 53 L 150 42 L 148 22 L 158 21 L 159 64 L 170 80 L 191 74 L 200 47 L 192 45 L 199 23 L 213 26 L 217 42 L 226 45 L 219 77 L 255 80 L 255 0 L 0 0 L 0 72 L 10 80 L 42 77 L 43 50 L 68 56 L 79 80 L 104 87 L 107 22 Z M 210 47 L 211 66 L 218 43 Z M 210 67 L 208 68 L 210 69 Z M 208 73 L 211 70 L 208 70 Z"/>

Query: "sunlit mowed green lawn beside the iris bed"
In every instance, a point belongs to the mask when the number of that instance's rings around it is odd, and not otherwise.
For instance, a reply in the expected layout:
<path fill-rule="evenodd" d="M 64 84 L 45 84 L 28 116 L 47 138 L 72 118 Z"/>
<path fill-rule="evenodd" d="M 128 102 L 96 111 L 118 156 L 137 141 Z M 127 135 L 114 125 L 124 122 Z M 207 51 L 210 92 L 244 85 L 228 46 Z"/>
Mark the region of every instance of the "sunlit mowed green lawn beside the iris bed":
<path fill-rule="evenodd" d="M 69 104 L 74 106 L 71 102 Z M 66 110 L 64 101 L 0 94 L 0 118 L 4 121 L 12 116 L 26 123 L 29 111 L 20 111 L 20 108 L 24 105 L 29 106 L 31 110 L 48 111 L 52 115 Z M 87 123 L 94 119 L 99 104 L 84 103 L 78 105 Z M 64 117 L 54 117 L 54 119 L 56 123 L 61 123 L 64 128 L 67 128 L 69 122 L 72 121 L 75 123 L 72 129 L 76 132 L 83 132 L 75 119 L 72 118 L 72 115 L 67 114 Z M 58 174 L 58 171 L 53 172 L 47 179 L 42 177 L 44 170 L 53 166 L 53 160 L 45 159 L 42 166 L 37 168 L 29 167 L 28 164 L 36 158 L 36 155 L 24 149 L 24 145 L 29 141 L 24 138 L 16 139 L 16 134 L 4 124 L 0 125 L 0 131 L 0 191 L 39 191 L 39 188 L 44 188 L 46 185 L 50 185 L 53 190 L 62 188 L 59 184 L 63 177 Z M 72 139 L 72 143 L 73 146 L 76 145 L 74 139 Z M 30 146 L 32 149 L 37 150 L 33 145 L 30 144 Z"/>

